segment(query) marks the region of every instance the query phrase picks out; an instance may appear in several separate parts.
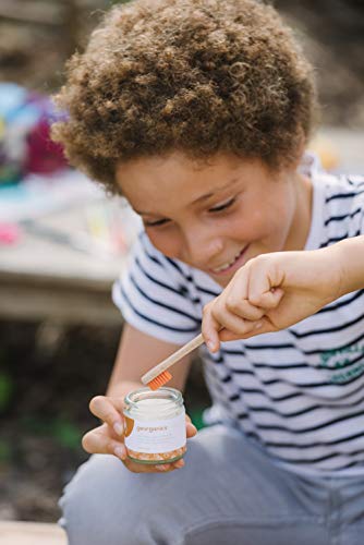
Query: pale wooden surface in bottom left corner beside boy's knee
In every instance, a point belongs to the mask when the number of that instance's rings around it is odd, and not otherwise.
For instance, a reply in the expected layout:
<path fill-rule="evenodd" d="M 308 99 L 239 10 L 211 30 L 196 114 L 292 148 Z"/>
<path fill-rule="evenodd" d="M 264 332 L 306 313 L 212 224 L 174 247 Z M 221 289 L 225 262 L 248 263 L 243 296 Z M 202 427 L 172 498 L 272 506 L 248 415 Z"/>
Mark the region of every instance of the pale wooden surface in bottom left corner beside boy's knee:
<path fill-rule="evenodd" d="M 1 545 L 66 545 L 65 532 L 44 522 L 0 521 Z"/>

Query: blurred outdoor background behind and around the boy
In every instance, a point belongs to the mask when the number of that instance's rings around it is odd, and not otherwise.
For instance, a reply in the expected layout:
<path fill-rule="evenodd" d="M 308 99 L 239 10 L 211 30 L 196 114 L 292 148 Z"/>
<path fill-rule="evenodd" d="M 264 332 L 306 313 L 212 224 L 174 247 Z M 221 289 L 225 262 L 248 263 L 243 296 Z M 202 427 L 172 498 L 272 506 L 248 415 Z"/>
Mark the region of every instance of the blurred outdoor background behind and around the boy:
<path fill-rule="evenodd" d="M 48 140 L 48 97 L 111 3 L 0 2 L 0 520 L 58 519 L 122 329 L 110 288 L 137 219 Z M 272 3 L 316 69 L 323 126 L 312 147 L 328 169 L 364 172 L 364 2 Z M 185 399 L 201 426 L 198 362 Z"/>

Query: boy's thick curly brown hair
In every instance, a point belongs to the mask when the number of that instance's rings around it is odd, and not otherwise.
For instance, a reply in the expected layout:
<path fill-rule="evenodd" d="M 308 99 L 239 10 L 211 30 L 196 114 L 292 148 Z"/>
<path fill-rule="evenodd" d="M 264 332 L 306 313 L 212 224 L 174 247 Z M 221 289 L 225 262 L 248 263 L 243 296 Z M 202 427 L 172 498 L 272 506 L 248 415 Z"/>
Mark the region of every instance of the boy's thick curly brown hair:
<path fill-rule="evenodd" d="M 183 152 L 295 160 L 315 120 L 313 69 L 257 0 L 134 0 L 112 8 L 56 97 L 53 138 L 114 193 L 116 167 Z"/>

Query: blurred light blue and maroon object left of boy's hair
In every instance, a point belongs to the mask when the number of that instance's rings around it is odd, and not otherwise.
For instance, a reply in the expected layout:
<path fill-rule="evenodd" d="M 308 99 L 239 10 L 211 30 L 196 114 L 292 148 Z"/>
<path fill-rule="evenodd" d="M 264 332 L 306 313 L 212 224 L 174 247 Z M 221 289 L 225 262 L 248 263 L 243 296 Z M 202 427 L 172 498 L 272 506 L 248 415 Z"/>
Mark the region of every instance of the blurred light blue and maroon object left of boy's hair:
<path fill-rule="evenodd" d="M 63 117 L 48 96 L 0 83 L 0 186 L 68 166 L 49 135 L 51 123 Z"/>

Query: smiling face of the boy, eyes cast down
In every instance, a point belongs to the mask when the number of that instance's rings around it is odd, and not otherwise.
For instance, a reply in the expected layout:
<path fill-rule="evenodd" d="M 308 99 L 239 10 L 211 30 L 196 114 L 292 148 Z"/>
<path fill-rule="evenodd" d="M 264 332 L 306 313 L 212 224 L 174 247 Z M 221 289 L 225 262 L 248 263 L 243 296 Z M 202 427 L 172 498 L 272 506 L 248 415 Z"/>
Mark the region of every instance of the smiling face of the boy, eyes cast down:
<path fill-rule="evenodd" d="M 174 153 L 119 166 L 117 178 L 153 244 L 225 287 L 262 253 L 304 247 L 311 183 L 288 168 L 227 155 L 197 164 Z"/>

